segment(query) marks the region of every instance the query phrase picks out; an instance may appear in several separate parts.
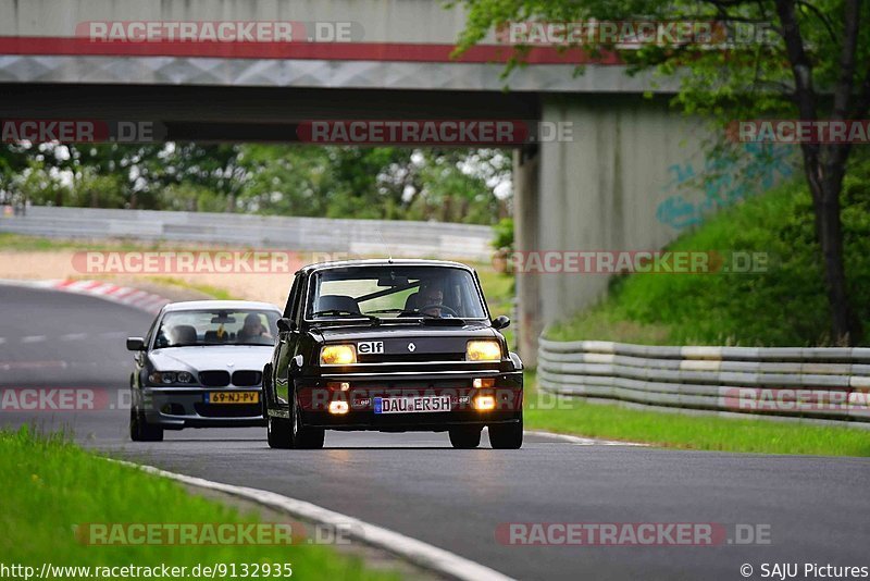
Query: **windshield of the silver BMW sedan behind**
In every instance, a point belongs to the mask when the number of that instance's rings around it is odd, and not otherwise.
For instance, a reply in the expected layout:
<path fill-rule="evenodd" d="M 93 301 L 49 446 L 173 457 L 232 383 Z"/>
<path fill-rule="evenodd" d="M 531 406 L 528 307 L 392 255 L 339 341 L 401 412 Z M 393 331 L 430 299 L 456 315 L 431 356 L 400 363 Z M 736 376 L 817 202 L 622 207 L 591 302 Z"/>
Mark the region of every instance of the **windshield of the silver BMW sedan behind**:
<path fill-rule="evenodd" d="M 203 309 L 167 312 L 154 348 L 199 345 L 274 345 L 278 313 L 271 310 Z"/>

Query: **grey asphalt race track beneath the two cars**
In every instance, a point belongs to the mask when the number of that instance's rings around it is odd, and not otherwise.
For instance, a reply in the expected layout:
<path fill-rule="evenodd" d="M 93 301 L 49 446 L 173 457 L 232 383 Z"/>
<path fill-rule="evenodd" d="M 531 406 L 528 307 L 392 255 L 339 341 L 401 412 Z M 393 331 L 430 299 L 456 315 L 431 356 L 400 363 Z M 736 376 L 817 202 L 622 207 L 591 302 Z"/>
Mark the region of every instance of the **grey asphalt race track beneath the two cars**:
<path fill-rule="evenodd" d="M 0 387 L 96 388 L 96 411 L 14 411 L 0 423 L 66 425 L 86 446 L 264 489 L 386 527 L 520 579 L 743 579 L 749 564 L 870 566 L 870 459 L 577 445 L 455 450 L 446 434 L 327 432 L 324 450 L 272 450 L 264 429 L 166 432 L 135 444 L 123 409 L 127 335 L 151 316 L 98 298 L 0 286 Z M 510 546 L 510 522 L 734 523 L 771 544 Z M 803 566 L 801 566 L 803 567 Z M 803 569 L 801 569 L 803 571 Z M 310 576 L 311 577 L 311 576 Z M 315 576 L 313 576 L 315 577 Z M 800 577 L 799 577 L 800 578 Z"/>

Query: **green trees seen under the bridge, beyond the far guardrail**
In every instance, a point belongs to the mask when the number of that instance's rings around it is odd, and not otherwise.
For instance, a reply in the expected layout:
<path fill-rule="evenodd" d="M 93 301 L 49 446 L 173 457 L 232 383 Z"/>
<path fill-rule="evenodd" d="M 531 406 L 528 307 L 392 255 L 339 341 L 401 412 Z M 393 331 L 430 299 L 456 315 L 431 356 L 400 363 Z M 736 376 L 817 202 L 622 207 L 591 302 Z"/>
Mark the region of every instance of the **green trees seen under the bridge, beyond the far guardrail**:
<path fill-rule="evenodd" d="M 0 193 L 33 203 L 489 224 L 500 150 L 165 144 L 0 147 Z M 5 198 L 11 196 L 7 195 Z"/>

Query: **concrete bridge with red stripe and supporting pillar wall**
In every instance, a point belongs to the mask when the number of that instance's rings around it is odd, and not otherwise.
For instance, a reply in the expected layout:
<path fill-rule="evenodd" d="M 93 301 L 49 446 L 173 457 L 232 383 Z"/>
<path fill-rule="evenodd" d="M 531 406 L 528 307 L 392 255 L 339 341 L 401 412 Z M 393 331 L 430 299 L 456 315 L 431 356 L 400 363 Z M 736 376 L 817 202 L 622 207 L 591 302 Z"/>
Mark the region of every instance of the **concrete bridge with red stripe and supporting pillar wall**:
<path fill-rule="evenodd" d="M 209 22 L 273 26 L 254 41 L 165 36 Z M 117 23 L 126 36 L 110 36 Z M 162 40 L 141 36 L 149 25 Z M 273 141 L 297 140 L 307 120 L 570 122 L 571 139 L 513 144 L 520 251 L 657 249 L 746 194 L 681 188 L 703 176 L 707 135 L 669 110 L 672 87 L 612 59 L 574 77 L 588 59 L 552 48 L 501 78 L 510 47 L 494 35 L 451 59 L 463 26 L 461 9 L 430 0 L 0 0 L 0 118 L 152 120 L 167 139 Z M 526 360 L 543 326 L 607 280 L 521 274 Z"/>

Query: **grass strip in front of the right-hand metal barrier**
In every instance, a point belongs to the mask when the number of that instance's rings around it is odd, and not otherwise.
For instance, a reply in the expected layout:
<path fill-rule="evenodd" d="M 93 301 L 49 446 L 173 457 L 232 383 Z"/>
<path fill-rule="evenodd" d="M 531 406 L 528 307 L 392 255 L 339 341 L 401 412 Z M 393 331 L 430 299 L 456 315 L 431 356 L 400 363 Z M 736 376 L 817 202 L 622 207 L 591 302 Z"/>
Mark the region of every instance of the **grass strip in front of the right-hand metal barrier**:
<path fill-rule="evenodd" d="M 654 410 L 589 404 L 540 392 L 534 372 L 525 375 L 523 419 L 531 430 L 546 430 L 685 449 L 759 454 L 870 456 L 870 433 L 857 428 L 823 427 L 716 416 L 681 416 Z M 561 401 L 561 404 L 559 403 Z"/>

